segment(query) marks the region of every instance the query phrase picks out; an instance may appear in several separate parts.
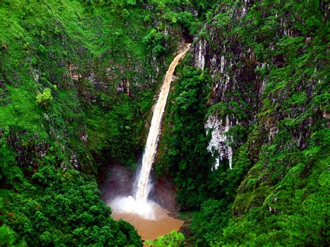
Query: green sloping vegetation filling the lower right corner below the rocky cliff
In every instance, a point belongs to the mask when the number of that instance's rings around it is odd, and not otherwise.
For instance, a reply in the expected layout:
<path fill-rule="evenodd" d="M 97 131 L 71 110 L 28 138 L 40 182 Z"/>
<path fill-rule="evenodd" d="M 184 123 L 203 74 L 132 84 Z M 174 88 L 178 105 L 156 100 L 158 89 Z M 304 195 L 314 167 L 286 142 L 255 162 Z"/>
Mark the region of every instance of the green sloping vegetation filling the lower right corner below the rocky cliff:
<path fill-rule="evenodd" d="M 279 245 L 327 243 L 329 158 L 324 154 L 329 152 L 329 148 L 321 152 L 318 145 L 322 144 L 315 143 L 315 146 L 297 152 L 296 156 L 302 155 L 299 163 L 294 164 L 283 179 L 271 187 L 271 191 L 262 192 L 267 195 L 262 204 L 258 206 L 257 201 L 251 201 L 252 205 L 249 205 L 250 209 L 244 216 L 230 221 L 220 238 L 222 244 L 232 243 L 233 239 L 237 243 L 250 245 L 264 245 L 269 242 Z M 290 164 L 290 160 L 287 164 Z M 255 167 L 258 169 L 258 166 Z M 272 171 L 278 172 L 281 171 Z M 250 180 L 256 175 L 256 170 L 251 171 Z M 258 189 L 251 191 L 251 195 L 255 196 Z M 241 204 L 242 200 L 239 198 L 245 200 L 247 195 L 249 194 L 242 193 L 242 196 L 237 196 L 235 204 Z M 251 200 L 252 196 L 248 198 Z M 237 209 L 234 207 L 234 210 Z M 249 232 L 248 235 L 242 234 L 246 231 Z"/>

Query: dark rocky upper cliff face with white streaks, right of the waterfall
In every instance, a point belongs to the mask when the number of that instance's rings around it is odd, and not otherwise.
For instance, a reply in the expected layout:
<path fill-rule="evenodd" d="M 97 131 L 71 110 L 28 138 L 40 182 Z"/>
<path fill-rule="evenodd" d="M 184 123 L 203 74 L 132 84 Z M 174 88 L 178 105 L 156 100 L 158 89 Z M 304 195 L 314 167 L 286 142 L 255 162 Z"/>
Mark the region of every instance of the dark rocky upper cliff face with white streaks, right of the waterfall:
<path fill-rule="evenodd" d="M 224 132 L 229 127 L 261 128 L 258 143 L 250 143 L 251 148 L 272 143 L 279 122 L 306 113 L 314 95 L 322 93 L 317 84 L 327 80 L 324 74 L 327 51 L 316 50 L 315 45 L 320 46 L 322 41 L 313 27 L 326 24 L 325 3 L 321 2 L 320 6 L 306 3 L 304 6 L 298 3 L 227 2 L 221 3 L 212 14 L 193 47 L 194 65 L 210 71 L 213 79 L 208 102 L 212 110 L 205 127 L 213 127 L 217 133 L 212 135 L 211 142 L 217 139 L 218 145 L 221 143 L 217 148 L 221 159 L 228 159 L 230 145 L 225 143 Z M 299 10 L 304 10 L 300 16 Z M 315 12 L 319 18 L 310 27 L 304 20 L 308 11 Z M 304 30 L 299 29 L 302 26 Z M 323 54 L 311 55 L 317 52 Z M 288 102 L 290 97 L 292 100 Z M 301 99 L 299 102 L 298 98 Z M 298 148 L 306 148 L 311 125 L 316 119 L 329 119 L 327 109 L 320 108 L 314 106 L 311 109 L 313 116 L 305 115 L 292 128 L 292 141 Z M 265 111 L 267 115 L 258 118 L 258 114 Z M 251 157 L 256 161 L 258 152 Z"/>

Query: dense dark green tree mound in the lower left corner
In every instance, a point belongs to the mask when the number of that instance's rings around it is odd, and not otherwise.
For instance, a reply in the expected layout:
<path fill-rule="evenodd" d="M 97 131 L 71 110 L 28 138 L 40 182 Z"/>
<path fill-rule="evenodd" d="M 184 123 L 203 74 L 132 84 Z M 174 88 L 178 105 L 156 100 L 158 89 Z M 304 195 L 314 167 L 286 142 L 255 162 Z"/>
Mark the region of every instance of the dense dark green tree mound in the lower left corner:
<path fill-rule="evenodd" d="M 29 245 L 102 244 L 140 246 L 134 228 L 111 218 L 100 191 L 75 170 L 54 167 L 54 159 L 38 168 L 19 194 L 6 198 L 1 221 Z M 33 181 L 33 184 L 31 182 Z M 18 189 L 18 187 L 17 187 Z M 24 207 L 22 207 L 24 205 Z"/>

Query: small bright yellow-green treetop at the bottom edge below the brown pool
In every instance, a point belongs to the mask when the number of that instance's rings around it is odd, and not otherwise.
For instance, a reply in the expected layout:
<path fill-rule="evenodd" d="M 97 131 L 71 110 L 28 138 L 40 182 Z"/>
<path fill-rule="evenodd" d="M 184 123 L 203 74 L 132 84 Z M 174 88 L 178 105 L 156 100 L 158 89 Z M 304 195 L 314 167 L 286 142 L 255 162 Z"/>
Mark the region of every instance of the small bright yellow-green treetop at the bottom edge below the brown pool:
<path fill-rule="evenodd" d="M 165 247 L 165 246 L 184 246 L 184 235 L 181 232 L 176 232 L 173 230 L 172 232 L 160 236 L 157 240 L 147 240 L 146 244 L 148 246 L 155 246 L 155 247 Z"/>

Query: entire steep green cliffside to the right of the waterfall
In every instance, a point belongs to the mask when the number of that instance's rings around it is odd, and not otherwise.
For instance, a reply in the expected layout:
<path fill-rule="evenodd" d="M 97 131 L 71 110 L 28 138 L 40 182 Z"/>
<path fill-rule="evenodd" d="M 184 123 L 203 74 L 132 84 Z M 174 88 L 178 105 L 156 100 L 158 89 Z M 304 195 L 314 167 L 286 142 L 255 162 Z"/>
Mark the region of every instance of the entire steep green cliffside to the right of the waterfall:
<path fill-rule="evenodd" d="M 194 97 L 182 71 L 159 158 L 182 209 L 201 207 L 198 243 L 329 241 L 328 10 L 327 1 L 245 0 L 207 15 L 186 64 L 210 78 L 199 86 L 208 91 Z M 200 105 L 207 134 L 197 122 L 178 127 L 196 114 L 182 113 L 183 101 Z"/>

